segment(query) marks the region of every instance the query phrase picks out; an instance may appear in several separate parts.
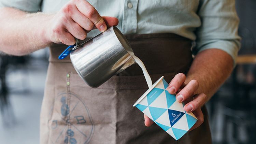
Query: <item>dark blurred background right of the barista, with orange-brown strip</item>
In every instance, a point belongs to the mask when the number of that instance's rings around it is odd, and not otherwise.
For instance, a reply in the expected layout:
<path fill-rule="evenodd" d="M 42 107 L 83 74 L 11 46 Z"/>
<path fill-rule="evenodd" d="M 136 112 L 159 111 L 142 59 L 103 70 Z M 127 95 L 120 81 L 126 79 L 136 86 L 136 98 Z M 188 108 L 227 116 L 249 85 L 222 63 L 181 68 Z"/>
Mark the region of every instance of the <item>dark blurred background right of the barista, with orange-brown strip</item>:
<path fill-rule="evenodd" d="M 236 0 L 237 67 L 207 103 L 214 144 L 256 144 L 256 0 Z"/>

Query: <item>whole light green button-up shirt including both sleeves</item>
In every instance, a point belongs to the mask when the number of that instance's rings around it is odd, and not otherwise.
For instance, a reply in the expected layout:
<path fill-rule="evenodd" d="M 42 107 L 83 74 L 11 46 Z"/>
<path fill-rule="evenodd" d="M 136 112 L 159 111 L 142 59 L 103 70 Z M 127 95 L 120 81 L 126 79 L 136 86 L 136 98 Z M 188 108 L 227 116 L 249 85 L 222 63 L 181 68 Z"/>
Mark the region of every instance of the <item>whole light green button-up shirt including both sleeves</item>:
<path fill-rule="evenodd" d="M 69 0 L 0 0 L 0 7 L 57 12 Z M 234 0 L 87 0 L 102 16 L 118 18 L 123 34 L 175 33 L 196 41 L 193 54 L 218 48 L 237 60 L 239 18 Z M 93 30 L 88 37 L 100 33 Z"/>

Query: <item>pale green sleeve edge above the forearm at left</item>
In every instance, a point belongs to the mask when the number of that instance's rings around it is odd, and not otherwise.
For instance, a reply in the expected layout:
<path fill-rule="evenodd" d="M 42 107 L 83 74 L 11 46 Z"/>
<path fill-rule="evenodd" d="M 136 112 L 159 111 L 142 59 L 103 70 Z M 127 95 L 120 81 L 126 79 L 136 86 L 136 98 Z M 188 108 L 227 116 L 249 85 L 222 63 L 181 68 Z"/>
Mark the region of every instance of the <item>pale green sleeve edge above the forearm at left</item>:
<path fill-rule="evenodd" d="M 0 8 L 10 7 L 25 12 L 39 12 L 42 0 L 0 0 Z"/>

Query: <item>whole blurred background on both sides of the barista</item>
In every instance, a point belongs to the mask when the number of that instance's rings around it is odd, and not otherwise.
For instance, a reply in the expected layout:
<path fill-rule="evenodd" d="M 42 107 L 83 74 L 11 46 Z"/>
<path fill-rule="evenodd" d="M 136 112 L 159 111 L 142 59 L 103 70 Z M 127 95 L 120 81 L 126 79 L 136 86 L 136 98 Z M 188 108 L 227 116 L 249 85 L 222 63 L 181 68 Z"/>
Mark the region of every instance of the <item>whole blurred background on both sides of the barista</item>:
<path fill-rule="evenodd" d="M 242 48 L 237 67 L 207 103 L 214 144 L 256 144 L 256 0 L 236 0 Z M 48 48 L 0 55 L 0 143 L 39 143 Z"/>

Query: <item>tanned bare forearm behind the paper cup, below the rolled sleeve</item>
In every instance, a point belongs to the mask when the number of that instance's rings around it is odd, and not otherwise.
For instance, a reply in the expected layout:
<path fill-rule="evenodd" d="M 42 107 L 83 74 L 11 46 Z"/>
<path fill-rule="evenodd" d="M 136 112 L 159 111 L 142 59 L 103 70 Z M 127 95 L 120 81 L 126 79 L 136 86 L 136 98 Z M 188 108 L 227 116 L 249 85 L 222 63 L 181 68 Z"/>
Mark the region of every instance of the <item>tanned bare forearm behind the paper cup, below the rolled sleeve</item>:
<path fill-rule="evenodd" d="M 233 70 L 233 59 L 220 49 L 207 49 L 198 53 L 187 73 L 185 83 L 197 80 L 195 93 L 205 93 L 207 101 L 226 81 Z"/>

